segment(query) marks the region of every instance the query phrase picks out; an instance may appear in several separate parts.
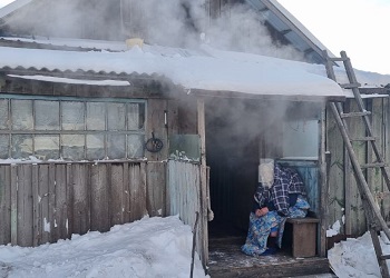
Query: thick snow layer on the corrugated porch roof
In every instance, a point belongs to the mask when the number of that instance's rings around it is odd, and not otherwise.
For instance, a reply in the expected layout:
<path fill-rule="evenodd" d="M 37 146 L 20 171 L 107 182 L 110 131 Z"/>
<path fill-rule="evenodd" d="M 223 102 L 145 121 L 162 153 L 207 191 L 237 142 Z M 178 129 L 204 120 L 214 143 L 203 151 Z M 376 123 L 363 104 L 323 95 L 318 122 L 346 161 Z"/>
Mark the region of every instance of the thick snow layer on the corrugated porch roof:
<path fill-rule="evenodd" d="M 124 42 L 124 47 L 126 47 Z M 0 68 L 159 75 L 187 89 L 251 95 L 344 97 L 321 66 L 220 51 L 144 44 L 121 52 L 0 48 Z"/>

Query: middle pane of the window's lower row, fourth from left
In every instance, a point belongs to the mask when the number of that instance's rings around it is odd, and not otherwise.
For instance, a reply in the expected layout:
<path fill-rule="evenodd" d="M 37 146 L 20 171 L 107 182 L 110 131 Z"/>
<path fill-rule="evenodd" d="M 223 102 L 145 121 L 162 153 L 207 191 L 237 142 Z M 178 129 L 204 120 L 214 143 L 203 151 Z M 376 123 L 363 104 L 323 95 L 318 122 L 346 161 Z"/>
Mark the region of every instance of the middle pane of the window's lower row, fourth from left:
<path fill-rule="evenodd" d="M 70 160 L 84 160 L 85 138 L 82 135 L 62 135 L 62 158 Z"/>

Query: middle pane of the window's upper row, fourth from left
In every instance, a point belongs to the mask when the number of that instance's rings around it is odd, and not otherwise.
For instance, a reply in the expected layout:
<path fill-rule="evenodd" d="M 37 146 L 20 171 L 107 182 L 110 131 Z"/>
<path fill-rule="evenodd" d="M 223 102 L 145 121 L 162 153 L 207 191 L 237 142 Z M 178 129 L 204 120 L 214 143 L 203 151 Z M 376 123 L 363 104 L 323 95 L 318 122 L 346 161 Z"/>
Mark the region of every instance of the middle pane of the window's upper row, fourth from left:
<path fill-rule="evenodd" d="M 62 130 L 84 130 L 84 103 L 62 101 L 61 108 Z"/>

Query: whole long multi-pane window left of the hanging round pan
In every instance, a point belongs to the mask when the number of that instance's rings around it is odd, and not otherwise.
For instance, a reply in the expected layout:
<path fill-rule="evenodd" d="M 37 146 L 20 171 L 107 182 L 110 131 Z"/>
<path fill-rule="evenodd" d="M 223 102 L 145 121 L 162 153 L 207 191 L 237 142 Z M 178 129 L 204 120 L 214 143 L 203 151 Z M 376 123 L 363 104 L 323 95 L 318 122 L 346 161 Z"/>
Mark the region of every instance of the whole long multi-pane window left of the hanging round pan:
<path fill-rule="evenodd" d="M 145 101 L 0 96 L 0 159 L 144 157 Z"/>

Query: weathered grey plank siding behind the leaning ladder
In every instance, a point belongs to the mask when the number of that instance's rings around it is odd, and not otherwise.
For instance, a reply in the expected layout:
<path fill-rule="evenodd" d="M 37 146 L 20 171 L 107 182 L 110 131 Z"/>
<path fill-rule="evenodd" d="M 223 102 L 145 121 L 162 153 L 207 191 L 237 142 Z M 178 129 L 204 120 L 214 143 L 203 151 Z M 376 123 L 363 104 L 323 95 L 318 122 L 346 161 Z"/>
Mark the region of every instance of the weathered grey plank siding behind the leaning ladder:
<path fill-rule="evenodd" d="M 365 99 L 364 102 L 367 110 L 372 112 L 372 131 L 377 137 L 378 146 L 383 150 L 384 160 L 389 162 L 389 98 Z M 344 110 L 357 111 L 355 102 L 353 100 L 348 100 L 344 103 Z M 349 133 L 351 138 L 365 136 L 365 129 L 360 118 L 348 120 L 350 121 Z M 331 152 L 328 222 L 331 226 L 332 224 L 340 221 L 340 234 L 359 236 L 367 230 L 367 224 L 360 193 L 357 187 L 357 180 L 349 159 L 345 159 L 347 155 L 343 148 L 343 140 L 330 111 L 328 113 L 326 122 L 326 149 Z M 370 151 L 371 147 L 367 148 L 361 141 L 353 142 L 353 147 L 357 151 L 360 163 L 376 161 L 374 155 Z M 381 198 L 381 196 L 383 196 L 382 192 L 388 192 L 388 189 L 381 178 L 380 170 L 369 169 L 365 171 L 365 176 L 371 192 L 377 198 L 383 217 L 386 220 L 389 220 L 390 196 L 384 195 L 383 199 Z"/>

